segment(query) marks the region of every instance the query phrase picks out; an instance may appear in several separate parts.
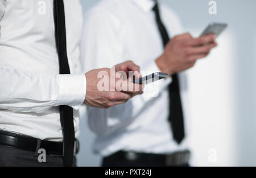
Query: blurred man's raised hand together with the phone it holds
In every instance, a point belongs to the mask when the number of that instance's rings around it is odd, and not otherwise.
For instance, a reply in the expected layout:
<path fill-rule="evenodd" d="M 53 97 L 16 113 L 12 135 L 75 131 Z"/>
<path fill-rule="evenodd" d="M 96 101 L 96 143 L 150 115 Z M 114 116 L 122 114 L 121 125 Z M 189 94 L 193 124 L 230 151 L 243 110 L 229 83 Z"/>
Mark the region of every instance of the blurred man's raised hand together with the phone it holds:
<path fill-rule="evenodd" d="M 163 55 L 156 59 L 156 64 L 162 72 L 171 75 L 192 68 L 198 59 L 207 57 L 210 50 L 217 46 L 214 40 L 227 26 L 210 23 L 199 38 L 193 38 L 188 33 L 175 36 L 166 45 Z"/>

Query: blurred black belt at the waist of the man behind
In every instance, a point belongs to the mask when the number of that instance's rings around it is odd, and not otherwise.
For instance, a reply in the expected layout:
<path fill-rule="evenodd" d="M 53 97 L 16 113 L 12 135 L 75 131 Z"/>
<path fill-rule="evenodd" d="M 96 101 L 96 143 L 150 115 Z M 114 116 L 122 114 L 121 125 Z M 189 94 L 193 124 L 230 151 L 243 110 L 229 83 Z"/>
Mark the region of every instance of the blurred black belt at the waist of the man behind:
<path fill-rule="evenodd" d="M 108 160 L 128 160 L 130 162 L 154 162 L 164 166 L 187 165 L 190 151 L 180 151 L 173 154 L 146 154 L 132 151 L 118 151 L 113 155 L 105 157 Z"/>

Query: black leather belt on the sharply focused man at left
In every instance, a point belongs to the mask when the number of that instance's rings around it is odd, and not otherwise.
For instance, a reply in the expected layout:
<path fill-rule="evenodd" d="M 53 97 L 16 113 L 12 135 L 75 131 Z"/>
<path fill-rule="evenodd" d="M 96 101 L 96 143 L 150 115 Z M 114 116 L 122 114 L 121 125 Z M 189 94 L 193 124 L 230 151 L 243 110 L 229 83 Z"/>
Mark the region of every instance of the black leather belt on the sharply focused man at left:
<path fill-rule="evenodd" d="M 30 136 L 0 131 L 0 145 L 36 152 L 43 148 L 46 154 L 63 156 L 63 142 L 40 140 Z M 74 155 L 79 152 L 79 141 L 75 141 Z"/>

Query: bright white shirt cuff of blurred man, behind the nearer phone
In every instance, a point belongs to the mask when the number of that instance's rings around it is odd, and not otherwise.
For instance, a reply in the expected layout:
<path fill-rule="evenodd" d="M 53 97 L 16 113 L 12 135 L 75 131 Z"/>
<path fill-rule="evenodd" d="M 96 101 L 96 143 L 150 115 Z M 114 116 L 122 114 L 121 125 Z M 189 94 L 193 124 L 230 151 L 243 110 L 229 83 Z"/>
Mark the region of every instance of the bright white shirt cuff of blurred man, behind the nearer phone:
<path fill-rule="evenodd" d="M 152 63 L 148 63 L 145 67 L 142 68 L 141 73 L 142 76 L 146 76 L 151 73 L 160 72 L 158 65 L 156 65 L 155 61 Z M 167 77 L 162 80 L 158 80 L 147 84 L 144 87 L 144 92 L 142 94 L 145 101 L 150 100 L 151 98 L 158 97 L 159 93 L 162 90 L 166 89 L 168 85 L 172 82 L 172 77 Z"/>

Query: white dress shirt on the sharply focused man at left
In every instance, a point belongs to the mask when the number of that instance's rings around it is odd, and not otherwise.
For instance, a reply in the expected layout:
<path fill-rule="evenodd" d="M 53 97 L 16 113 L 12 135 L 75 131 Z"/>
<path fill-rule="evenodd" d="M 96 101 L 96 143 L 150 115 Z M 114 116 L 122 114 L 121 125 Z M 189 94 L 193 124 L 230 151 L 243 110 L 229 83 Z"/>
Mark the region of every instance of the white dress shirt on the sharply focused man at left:
<path fill-rule="evenodd" d="M 75 109 L 85 99 L 81 73 L 79 0 L 64 0 L 67 55 L 72 74 L 59 74 L 53 0 L 0 0 L 0 129 L 61 141 L 60 105 Z M 80 73 L 80 74 L 75 74 Z"/>

